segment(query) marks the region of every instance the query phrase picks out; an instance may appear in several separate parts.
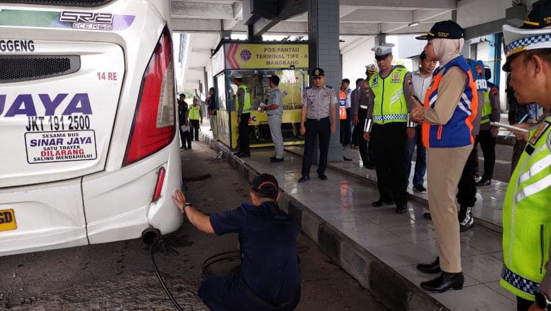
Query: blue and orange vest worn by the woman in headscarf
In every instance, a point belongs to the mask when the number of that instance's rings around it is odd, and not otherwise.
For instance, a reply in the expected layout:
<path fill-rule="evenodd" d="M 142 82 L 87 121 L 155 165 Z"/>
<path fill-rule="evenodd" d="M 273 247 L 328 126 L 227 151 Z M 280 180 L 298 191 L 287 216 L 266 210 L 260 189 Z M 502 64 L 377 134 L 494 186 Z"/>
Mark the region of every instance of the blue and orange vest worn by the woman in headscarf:
<path fill-rule="evenodd" d="M 459 56 L 446 63 L 446 66 L 435 72 L 433 81 L 425 94 L 424 106 L 435 108 L 438 97 L 438 85 L 444 74 L 453 66 L 459 67 L 467 75 L 467 83 L 461 98 L 448 123 L 444 125 L 430 125 L 423 123 L 423 144 L 432 148 L 456 148 L 474 143 L 472 139 L 472 121 L 477 116 L 478 94 L 477 86 L 472 78 L 472 71 L 464 57 Z"/>

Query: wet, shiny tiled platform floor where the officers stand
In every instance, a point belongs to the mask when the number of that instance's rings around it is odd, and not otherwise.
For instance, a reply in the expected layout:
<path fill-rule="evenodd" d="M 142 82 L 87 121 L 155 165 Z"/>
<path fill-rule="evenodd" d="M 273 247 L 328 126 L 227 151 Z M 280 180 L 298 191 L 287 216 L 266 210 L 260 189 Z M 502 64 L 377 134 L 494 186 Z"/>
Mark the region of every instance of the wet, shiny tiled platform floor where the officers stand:
<path fill-rule="evenodd" d="M 208 128 L 203 128 L 206 132 Z M 357 154 L 357 150 L 353 150 Z M 345 151 L 346 152 L 346 151 Z M 329 163 L 329 180 L 322 181 L 311 174 L 311 181 L 298 183 L 302 163 L 302 147 L 286 147 L 285 161 L 270 163 L 271 148 L 253 149 L 243 161 L 257 172 L 273 174 L 280 187 L 293 199 L 342 232 L 368 254 L 374 255 L 414 286 L 432 278 L 415 269 L 419 262 L 436 257 L 436 234 L 430 220 L 422 217 L 426 194 L 410 200 L 406 214 L 395 214 L 394 206 L 373 208 L 378 199 L 374 186 L 375 171 L 366 170 L 355 156 L 352 162 Z M 353 153 L 346 152 L 347 157 Z M 311 172 L 315 172 L 315 165 Z M 479 190 L 474 213 L 496 228 L 501 225 L 501 205 L 506 183 L 493 181 L 492 186 Z M 466 277 L 464 290 L 430 294 L 450 310 L 516 310 L 515 297 L 501 288 L 501 234 L 475 225 L 461 233 L 461 257 Z M 420 288 L 419 288 L 420 289 Z"/>

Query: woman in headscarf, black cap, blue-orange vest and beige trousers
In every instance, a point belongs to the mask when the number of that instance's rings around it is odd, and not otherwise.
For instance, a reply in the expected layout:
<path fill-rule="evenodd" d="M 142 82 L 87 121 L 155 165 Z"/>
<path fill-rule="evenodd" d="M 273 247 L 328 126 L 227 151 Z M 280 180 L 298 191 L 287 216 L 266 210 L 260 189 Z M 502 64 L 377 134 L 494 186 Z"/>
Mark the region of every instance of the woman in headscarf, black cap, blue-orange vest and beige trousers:
<path fill-rule="evenodd" d="M 472 121 L 477 114 L 477 87 L 470 66 L 461 56 L 463 28 L 453 21 L 435 23 L 424 48 L 428 59 L 439 62 L 439 70 L 426 91 L 424 106 L 417 103 L 412 121 L 422 121 L 422 137 L 427 148 L 428 206 L 437 232 L 439 257 L 419 263 L 417 269 L 440 273 L 421 283 L 424 290 L 446 292 L 463 288 L 459 223 L 455 190 L 472 150 Z"/>

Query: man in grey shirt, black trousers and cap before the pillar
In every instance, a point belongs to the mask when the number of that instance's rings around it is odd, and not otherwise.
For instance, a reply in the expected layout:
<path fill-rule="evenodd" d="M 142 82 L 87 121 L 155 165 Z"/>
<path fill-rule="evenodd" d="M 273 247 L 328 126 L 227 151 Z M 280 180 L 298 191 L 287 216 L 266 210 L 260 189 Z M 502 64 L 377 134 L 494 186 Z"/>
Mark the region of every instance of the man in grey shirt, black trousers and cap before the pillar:
<path fill-rule="evenodd" d="M 300 119 L 300 134 L 305 135 L 304 157 L 302 157 L 302 177 L 299 183 L 310 180 L 310 168 L 313 161 L 315 139 L 320 144 L 320 161 L 318 161 L 318 177 L 327 180 L 327 153 L 331 133 L 337 132 L 337 93 L 332 86 L 325 85 L 325 72 L 322 68 L 312 70 L 313 85 L 304 89 L 302 94 L 302 114 Z M 331 117 L 331 119 L 330 119 Z"/>

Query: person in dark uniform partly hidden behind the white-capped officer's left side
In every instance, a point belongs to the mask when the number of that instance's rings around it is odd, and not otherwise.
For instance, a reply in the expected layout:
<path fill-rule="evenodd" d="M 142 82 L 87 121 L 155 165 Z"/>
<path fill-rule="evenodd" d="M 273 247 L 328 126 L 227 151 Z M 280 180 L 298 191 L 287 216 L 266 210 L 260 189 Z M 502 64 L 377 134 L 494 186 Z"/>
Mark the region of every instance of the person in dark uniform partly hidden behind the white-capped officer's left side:
<path fill-rule="evenodd" d="M 377 73 L 377 67 L 375 67 L 375 64 L 370 64 L 366 66 L 366 79 L 360 81 L 359 88 L 356 92 L 356 96 L 354 97 L 354 117 L 353 117 L 353 123 L 354 123 L 354 137 L 357 137 L 357 146 L 358 150 L 360 150 L 360 157 L 362 158 L 362 163 L 364 165 L 364 168 L 368 168 L 370 170 L 373 170 L 375 168 L 375 145 L 373 143 L 368 143 L 367 141 L 362 137 L 362 135 L 365 132 L 365 126 L 366 126 L 366 117 L 367 117 L 367 108 L 368 108 L 368 99 L 369 97 L 373 97 L 373 92 L 371 92 L 371 89 L 369 88 L 369 79 L 373 74 Z M 373 137 L 371 137 L 373 139 Z"/>

